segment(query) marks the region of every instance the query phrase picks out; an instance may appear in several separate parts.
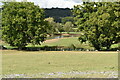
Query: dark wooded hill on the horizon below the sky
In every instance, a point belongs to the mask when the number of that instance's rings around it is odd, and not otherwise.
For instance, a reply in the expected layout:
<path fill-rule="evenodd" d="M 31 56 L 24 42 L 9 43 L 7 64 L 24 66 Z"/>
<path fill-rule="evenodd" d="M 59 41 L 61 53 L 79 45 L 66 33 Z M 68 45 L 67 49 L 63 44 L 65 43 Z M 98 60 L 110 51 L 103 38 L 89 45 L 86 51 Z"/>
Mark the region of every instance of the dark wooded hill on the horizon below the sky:
<path fill-rule="evenodd" d="M 61 18 L 72 16 L 69 8 L 45 8 L 45 18 L 53 17 L 55 22 L 61 22 Z"/>

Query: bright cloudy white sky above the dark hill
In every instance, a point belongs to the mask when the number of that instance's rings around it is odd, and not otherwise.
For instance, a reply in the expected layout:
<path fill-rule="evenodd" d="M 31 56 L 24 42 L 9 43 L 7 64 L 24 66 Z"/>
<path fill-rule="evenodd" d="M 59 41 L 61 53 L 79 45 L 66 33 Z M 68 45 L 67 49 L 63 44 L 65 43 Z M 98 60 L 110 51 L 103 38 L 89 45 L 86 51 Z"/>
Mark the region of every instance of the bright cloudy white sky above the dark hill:
<path fill-rule="evenodd" d="M 22 1 L 22 0 L 16 0 Z M 39 5 L 41 8 L 73 8 L 74 5 L 82 4 L 82 0 L 27 0 L 28 2 L 34 2 L 35 5 Z"/>

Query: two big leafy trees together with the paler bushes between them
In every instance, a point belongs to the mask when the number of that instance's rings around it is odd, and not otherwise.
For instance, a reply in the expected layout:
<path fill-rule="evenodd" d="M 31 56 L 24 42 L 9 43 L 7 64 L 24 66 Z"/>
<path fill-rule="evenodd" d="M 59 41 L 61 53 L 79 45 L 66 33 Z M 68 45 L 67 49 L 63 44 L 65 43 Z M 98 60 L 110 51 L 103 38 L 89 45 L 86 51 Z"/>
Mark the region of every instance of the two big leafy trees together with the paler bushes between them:
<path fill-rule="evenodd" d="M 74 6 L 72 17 L 45 18 L 44 9 L 32 2 L 4 2 L 2 40 L 23 49 L 27 44 L 41 44 L 48 34 L 77 28 L 81 43 L 89 42 L 96 50 L 109 50 L 120 40 L 120 2 L 83 2 Z"/>

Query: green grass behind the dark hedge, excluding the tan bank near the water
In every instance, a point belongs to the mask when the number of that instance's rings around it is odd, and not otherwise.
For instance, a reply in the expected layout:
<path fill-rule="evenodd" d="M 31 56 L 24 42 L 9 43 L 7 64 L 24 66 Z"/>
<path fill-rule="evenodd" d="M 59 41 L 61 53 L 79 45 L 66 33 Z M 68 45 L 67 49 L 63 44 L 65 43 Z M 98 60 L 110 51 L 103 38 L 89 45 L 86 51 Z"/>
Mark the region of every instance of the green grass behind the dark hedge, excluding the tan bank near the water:
<path fill-rule="evenodd" d="M 4 42 L 0 42 L 7 48 L 14 48 L 12 46 L 9 46 L 8 44 Z M 69 38 L 61 38 L 55 42 L 51 43 L 42 43 L 42 45 L 36 45 L 36 47 L 41 47 L 41 46 L 71 46 L 72 44 L 75 45 L 76 48 L 85 48 L 85 49 L 93 49 L 93 47 L 90 47 L 88 44 L 81 44 L 78 40 L 78 37 L 69 37 Z M 111 48 L 118 47 L 120 44 L 114 44 L 111 46 Z M 29 47 L 34 47 L 32 45 L 28 45 Z"/>

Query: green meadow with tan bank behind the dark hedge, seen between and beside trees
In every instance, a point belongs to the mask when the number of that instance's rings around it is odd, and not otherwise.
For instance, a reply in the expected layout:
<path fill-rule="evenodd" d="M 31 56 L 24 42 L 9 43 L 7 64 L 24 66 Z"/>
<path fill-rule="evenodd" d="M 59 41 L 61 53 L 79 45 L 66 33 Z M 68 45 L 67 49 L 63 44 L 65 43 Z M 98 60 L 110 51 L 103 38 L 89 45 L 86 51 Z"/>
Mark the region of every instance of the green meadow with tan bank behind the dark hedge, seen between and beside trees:
<path fill-rule="evenodd" d="M 16 47 L 12 47 L 9 44 L 0 41 L 0 44 L 4 45 L 8 49 L 13 49 Z M 72 48 L 72 46 L 75 46 L 76 48 L 84 48 L 84 49 L 90 49 L 94 50 L 94 47 L 89 45 L 89 43 L 83 43 L 81 44 L 78 40 L 78 37 L 66 37 L 66 38 L 59 38 L 59 39 L 48 39 L 41 43 L 41 45 L 32 45 L 28 44 L 26 47 L 44 47 L 44 46 L 64 46 L 66 48 Z M 120 46 L 120 43 L 113 44 L 111 48 L 118 48 Z"/>

